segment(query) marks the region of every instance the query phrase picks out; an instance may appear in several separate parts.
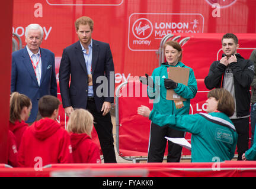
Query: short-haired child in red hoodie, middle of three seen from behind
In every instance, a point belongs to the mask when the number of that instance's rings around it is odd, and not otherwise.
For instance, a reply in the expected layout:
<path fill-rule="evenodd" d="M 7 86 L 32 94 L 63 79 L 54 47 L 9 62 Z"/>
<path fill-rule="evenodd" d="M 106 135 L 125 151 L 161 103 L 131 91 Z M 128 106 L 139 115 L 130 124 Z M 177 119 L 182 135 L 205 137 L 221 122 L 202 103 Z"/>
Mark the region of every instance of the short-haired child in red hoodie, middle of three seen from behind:
<path fill-rule="evenodd" d="M 46 95 L 39 100 L 39 112 L 43 118 L 23 133 L 18 151 L 20 167 L 41 170 L 44 165 L 73 162 L 70 136 L 56 122 L 59 105 L 55 96 Z"/>

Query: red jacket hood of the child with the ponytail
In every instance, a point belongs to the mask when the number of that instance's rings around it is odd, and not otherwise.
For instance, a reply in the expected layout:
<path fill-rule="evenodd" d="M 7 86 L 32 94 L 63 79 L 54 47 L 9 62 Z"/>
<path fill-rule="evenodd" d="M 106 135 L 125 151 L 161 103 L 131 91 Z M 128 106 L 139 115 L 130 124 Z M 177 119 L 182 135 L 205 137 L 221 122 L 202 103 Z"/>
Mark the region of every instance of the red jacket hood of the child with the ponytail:
<path fill-rule="evenodd" d="M 27 128 L 28 128 L 28 124 L 25 123 L 24 120 L 22 120 L 21 122 L 16 120 L 15 123 L 9 122 L 9 130 L 15 135 L 17 149 L 19 149 L 20 147 L 20 142 L 21 142 L 21 137 L 23 136 L 23 132 Z"/>

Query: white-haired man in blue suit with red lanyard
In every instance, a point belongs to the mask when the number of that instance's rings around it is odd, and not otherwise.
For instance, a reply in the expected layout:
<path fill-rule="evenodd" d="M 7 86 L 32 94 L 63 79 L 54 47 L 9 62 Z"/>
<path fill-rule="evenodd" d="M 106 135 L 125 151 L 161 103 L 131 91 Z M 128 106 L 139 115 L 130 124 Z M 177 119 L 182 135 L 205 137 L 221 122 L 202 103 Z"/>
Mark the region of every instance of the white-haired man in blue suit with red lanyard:
<path fill-rule="evenodd" d="M 25 29 L 25 48 L 12 53 L 11 92 L 27 95 L 32 102 L 28 123 L 40 118 L 38 101 L 50 94 L 57 96 L 55 55 L 46 48 L 40 48 L 43 28 L 30 24 Z"/>

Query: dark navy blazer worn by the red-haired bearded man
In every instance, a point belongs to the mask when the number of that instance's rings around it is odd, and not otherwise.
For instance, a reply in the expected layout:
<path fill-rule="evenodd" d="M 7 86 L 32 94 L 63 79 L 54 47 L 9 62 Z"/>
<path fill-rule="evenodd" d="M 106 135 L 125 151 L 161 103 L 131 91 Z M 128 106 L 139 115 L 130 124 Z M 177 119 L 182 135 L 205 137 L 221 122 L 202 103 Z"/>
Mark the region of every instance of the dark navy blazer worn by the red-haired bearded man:
<path fill-rule="evenodd" d="M 114 64 L 110 45 L 92 40 L 92 86 L 95 105 L 101 111 L 103 102 L 114 102 Z M 71 83 L 69 80 L 71 75 Z M 104 76 L 105 80 L 103 79 Z M 101 80 L 101 82 L 97 82 Z M 59 69 L 60 94 L 63 107 L 87 107 L 88 74 L 79 41 L 63 50 Z M 104 89 L 103 89 L 104 88 Z"/>

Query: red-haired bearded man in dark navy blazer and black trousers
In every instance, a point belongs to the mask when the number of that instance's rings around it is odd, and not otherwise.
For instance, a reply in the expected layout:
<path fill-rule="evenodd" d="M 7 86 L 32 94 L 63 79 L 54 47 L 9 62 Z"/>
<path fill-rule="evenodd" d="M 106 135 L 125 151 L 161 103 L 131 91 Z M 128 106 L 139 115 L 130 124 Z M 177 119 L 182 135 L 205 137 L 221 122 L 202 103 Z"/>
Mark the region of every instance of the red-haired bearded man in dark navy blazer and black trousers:
<path fill-rule="evenodd" d="M 113 58 L 109 44 L 92 40 L 93 26 L 89 17 L 76 19 L 79 41 L 63 50 L 59 69 L 60 93 L 68 116 L 74 108 L 88 109 L 92 113 L 104 162 L 116 162 L 110 116 L 114 102 Z"/>

